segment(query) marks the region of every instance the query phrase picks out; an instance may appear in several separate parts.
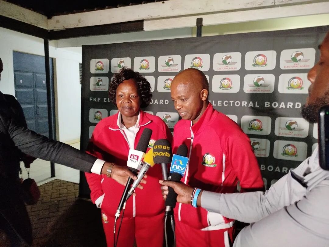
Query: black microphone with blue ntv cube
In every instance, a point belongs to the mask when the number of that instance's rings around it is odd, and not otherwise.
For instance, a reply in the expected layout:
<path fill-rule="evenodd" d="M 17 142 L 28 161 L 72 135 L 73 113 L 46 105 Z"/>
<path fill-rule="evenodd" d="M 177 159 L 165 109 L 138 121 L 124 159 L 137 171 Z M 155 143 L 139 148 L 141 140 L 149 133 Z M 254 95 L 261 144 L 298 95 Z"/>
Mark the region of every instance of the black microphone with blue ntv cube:
<path fill-rule="evenodd" d="M 170 181 L 179 182 L 184 176 L 187 163 L 189 162 L 189 158 L 187 158 L 188 149 L 185 144 L 182 144 L 178 147 L 177 154 L 172 156 L 172 161 L 170 165 Z M 173 188 L 168 188 L 167 199 L 165 200 L 165 215 L 168 215 L 171 208 L 175 208 L 176 206 L 176 198 L 177 194 Z"/>

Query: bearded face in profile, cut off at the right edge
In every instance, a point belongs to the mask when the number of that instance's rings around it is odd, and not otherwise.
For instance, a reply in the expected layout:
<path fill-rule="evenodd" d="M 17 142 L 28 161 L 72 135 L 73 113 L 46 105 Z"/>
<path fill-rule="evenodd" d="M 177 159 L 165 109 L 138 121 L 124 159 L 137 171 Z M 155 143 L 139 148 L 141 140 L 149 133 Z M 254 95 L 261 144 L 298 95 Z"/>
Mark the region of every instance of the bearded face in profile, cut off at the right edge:
<path fill-rule="evenodd" d="M 310 123 L 317 122 L 317 113 L 324 105 L 329 105 L 329 33 L 320 45 L 320 60 L 309 71 L 311 82 L 309 96 L 302 107 L 301 114 Z"/>

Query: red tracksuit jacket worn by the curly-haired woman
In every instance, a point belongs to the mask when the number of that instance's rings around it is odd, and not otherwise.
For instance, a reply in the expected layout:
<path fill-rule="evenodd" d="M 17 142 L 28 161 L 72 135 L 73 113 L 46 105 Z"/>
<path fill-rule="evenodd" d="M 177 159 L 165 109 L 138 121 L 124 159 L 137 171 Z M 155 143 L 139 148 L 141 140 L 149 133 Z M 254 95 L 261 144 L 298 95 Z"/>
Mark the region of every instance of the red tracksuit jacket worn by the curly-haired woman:
<path fill-rule="evenodd" d="M 118 113 L 103 119 L 96 125 L 89 141 L 87 152 L 97 158 L 126 166 L 129 144 L 123 130 L 120 130 L 117 125 L 117 118 Z M 135 137 L 135 148 L 144 128 L 153 130 L 151 140 L 167 139 L 172 143 L 172 134 L 164 121 L 157 116 L 140 111 L 139 130 Z M 151 146 L 149 146 L 147 151 L 150 148 Z M 91 173 L 86 173 L 85 175 L 91 190 L 90 197 L 92 202 L 95 203 L 95 200 L 105 193 L 101 208 L 107 215 L 114 217 L 124 186 L 112 178 L 107 178 L 106 175 Z M 161 165 L 155 165 L 147 172 L 147 183 L 143 185 L 144 189 L 137 189 L 136 198 L 131 197 L 127 201 L 125 217 L 135 217 L 135 215 L 150 217 L 164 212 L 164 201 L 159 179 L 162 179 Z"/>

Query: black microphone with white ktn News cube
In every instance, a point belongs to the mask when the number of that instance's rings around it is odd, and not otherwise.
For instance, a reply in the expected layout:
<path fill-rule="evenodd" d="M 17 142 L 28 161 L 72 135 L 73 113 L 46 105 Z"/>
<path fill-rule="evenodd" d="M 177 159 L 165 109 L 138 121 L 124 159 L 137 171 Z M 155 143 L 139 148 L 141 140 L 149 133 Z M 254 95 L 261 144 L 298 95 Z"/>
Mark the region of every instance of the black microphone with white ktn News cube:
<path fill-rule="evenodd" d="M 151 139 L 151 135 L 152 135 L 152 129 L 145 128 L 140 136 L 139 142 L 136 146 L 136 150 L 135 149 L 129 150 L 127 166 L 129 167 L 129 170 L 131 170 L 135 175 L 137 175 L 137 171 L 139 171 L 141 168 L 141 160 L 145 155 L 145 152 L 148 147 L 148 143 L 150 142 Z M 118 209 L 116 210 L 115 217 L 120 216 L 120 212 L 125 203 L 128 190 L 130 188 L 130 185 L 133 183 L 133 181 L 134 180 L 132 178 L 130 177 L 128 178 L 126 187 L 124 188 L 124 191 L 120 199 Z"/>

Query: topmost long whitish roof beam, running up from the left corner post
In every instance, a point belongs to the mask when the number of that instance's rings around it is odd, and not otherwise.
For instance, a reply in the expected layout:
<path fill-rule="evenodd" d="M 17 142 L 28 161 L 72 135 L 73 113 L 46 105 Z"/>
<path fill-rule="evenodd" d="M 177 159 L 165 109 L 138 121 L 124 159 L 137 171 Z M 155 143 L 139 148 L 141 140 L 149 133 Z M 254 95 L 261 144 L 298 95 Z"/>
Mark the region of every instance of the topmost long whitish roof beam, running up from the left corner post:
<path fill-rule="evenodd" d="M 48 29 L 56 30 L 135 20 L 168 17 L 176 18 L 179 16 L 195 14 L 216 14 L 238 10 L 298 5 L 306 2 L 319 2 L 319 0 L 170 0 L 114 9 L 53 16 L 48 20 Z"/>

